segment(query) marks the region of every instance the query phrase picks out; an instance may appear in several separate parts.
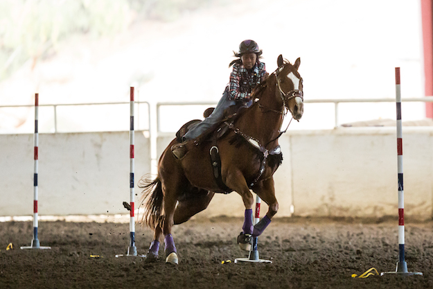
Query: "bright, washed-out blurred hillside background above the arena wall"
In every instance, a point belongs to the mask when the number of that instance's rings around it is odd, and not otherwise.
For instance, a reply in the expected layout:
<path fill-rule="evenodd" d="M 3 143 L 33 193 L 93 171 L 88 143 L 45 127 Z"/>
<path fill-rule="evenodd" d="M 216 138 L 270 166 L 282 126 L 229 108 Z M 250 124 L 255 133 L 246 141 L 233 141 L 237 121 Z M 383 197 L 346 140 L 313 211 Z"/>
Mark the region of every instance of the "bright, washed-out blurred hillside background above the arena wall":
<path fill-rule="evenodd" d="M 425 95 L 419 1 L 0 0 L 0 106 L 33 105 L 36 92 L 39 104 L 126 102 L 130 86 L 152 107 L 216 103 L 245 39 L 269 73 L 279 54 L 300 57 L 306 99 L 394 98 L 394 67 L 403 98 Z M 77 119 L 118 123 L 118 110 L 58 114 L 66 131 L 85 130 Z M 200 114 L 167 114 L 163 128 Z M 308 104 L 291 129 L 333 128 L 333 116 L 332 104 Z M 424 117 L 424 103 L 403 107 L 403 120 Z M 51 131 L 53 112 L 39 118 Z M 395 104 L 344 104 L 339 119 L 395 119 Z M 0 132 L 32 132 L 32 120 L 32 107 L 0 107 Z"/>

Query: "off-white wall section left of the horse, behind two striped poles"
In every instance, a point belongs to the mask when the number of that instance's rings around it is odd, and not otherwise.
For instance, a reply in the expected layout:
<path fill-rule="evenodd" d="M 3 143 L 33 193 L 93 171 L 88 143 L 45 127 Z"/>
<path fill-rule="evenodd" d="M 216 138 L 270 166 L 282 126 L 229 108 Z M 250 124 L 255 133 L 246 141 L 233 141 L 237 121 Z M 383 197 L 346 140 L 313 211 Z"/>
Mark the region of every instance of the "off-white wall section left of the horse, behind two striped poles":
<path fill-rule="evenodd" d="M 148 172 L 150 140 L 135 142 L 136 172 Z M 33 134 L 0 134 L 0 148 L 0 216 L 32 215 Z M 39 134 L 39 216 L 127 213 L 129 157 L 129 132 Z"/>

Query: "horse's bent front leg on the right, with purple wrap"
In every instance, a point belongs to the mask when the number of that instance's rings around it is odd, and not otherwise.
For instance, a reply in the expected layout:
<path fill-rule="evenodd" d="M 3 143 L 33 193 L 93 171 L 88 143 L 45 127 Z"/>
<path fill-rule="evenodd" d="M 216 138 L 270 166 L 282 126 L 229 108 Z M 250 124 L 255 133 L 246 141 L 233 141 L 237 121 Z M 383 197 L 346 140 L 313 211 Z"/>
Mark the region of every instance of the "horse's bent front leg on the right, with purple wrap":
<path fill-rule="evenodd" d="M 271 222 L 272 217 L 278 211 L 279 205 L 275 198 L 274 177 L 269 177 L 253 187 L 260 199 L 262 199 L 268 206 L 266 216 L 263 217 L 256 225 L 254 225 L 253 237 L 260 236 L 265 231 L 266 227 Z"/>

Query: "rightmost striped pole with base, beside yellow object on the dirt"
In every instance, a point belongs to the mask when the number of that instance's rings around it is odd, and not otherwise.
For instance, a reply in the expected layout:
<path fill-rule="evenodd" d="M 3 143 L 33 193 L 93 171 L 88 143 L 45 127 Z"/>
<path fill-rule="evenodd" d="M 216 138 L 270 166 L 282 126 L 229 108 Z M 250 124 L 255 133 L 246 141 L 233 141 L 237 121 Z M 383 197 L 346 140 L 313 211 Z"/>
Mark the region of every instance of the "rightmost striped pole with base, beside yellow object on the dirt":
<path fill-rule="evenodd" d="M 396 114 L 397 114 L 397 177 L 398 177 L 398 262 L 396 272 L 405 275 L 422 275 L 421 272 L 407 272 L 405 261 L 405 193 L 403 191 L 403 128 L 401 123 L 400 67 L 396 67 Z"/>

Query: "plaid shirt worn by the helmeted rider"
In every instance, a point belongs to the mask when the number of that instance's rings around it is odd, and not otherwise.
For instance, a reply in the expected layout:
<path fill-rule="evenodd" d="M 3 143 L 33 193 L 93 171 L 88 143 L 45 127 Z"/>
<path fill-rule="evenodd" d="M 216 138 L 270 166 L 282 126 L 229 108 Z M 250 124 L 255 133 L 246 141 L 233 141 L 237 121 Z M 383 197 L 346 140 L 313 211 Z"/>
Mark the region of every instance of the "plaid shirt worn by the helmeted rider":
<path fill-rule="evenodd" d="M 248 72 L 243 64 L 234 64 L 230 74 L 229 99 L 249 100 L 253 88 L 263 81 L 266 73 L 265 63 L 258 61 Z"/>

